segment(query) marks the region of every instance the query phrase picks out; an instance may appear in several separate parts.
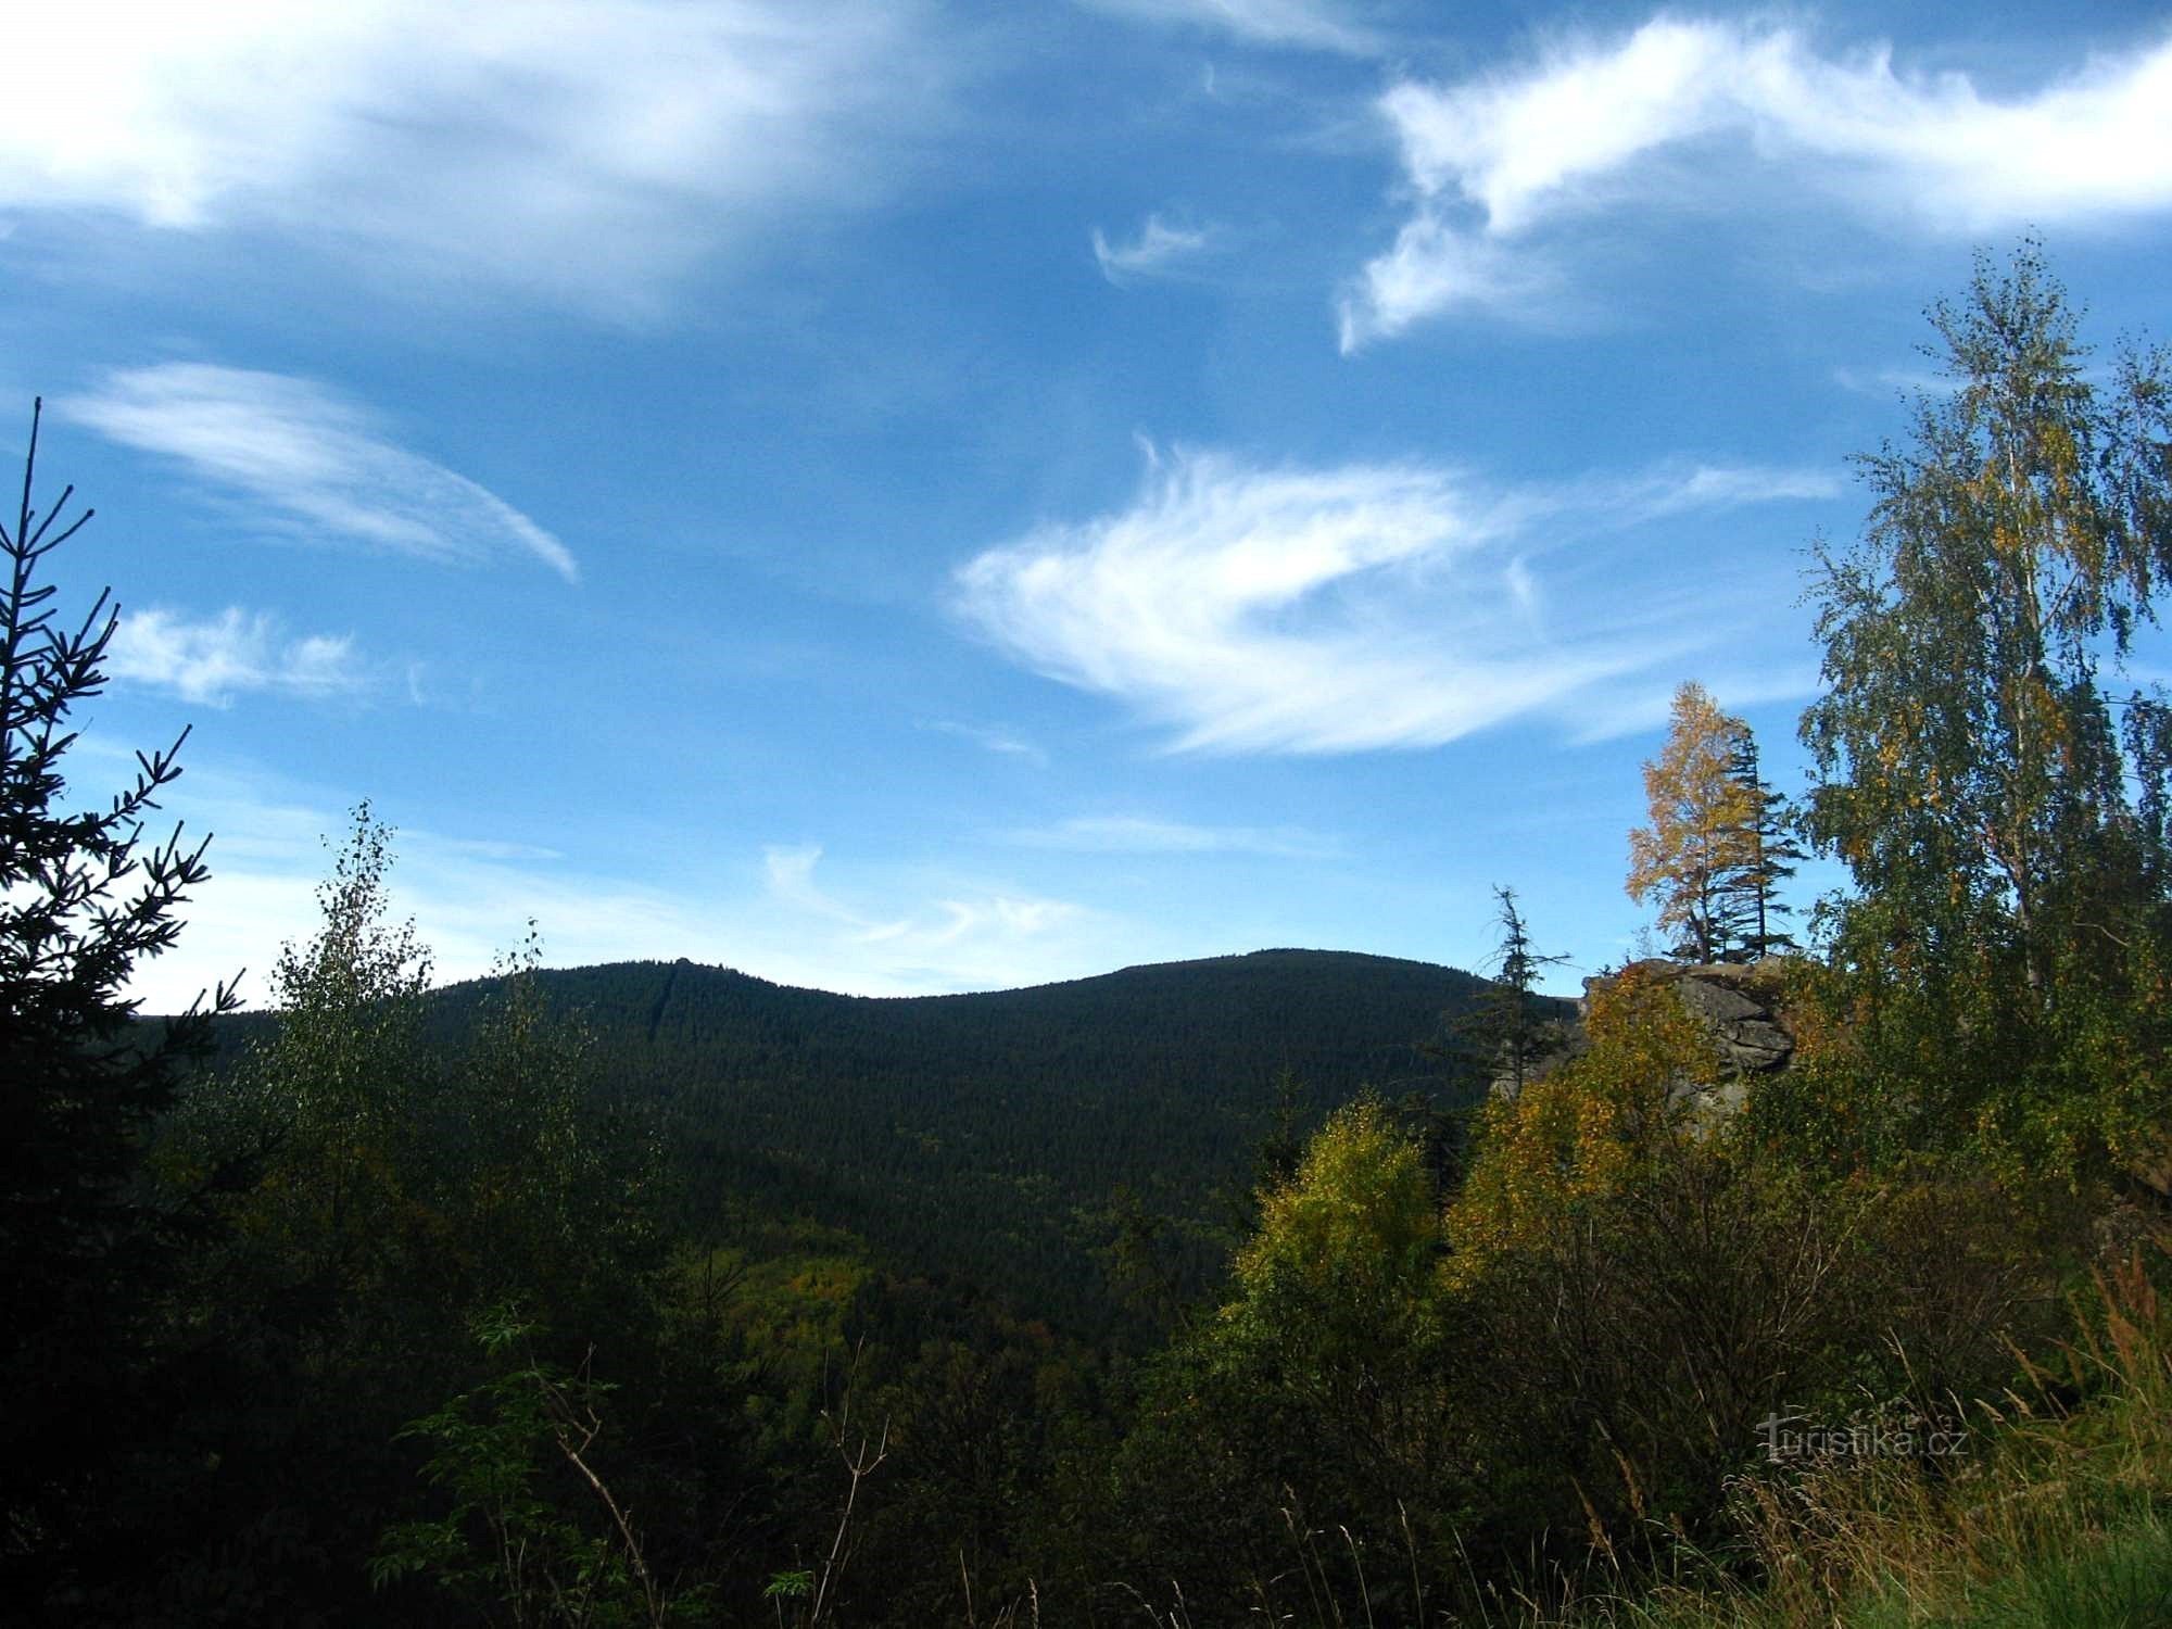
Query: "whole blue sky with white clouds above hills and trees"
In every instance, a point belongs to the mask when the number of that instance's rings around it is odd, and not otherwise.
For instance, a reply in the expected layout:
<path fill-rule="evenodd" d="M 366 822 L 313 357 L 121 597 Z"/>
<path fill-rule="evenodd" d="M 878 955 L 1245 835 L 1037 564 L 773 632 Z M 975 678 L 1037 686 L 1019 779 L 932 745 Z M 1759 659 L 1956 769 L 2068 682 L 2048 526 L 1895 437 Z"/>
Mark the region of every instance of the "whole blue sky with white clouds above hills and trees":
<path fill-rule="evenodd" d="M 2024 232 L 2163 334 L 2161 7 L 204 0 L 9 26 L 0 402 L 195 734 L 178 1006 L 371 799 L 441 977 L 1633 951 L 1696 678 Z M 1803 888 L 1801 893 L 1809 893 Z M 261 977 L 250 993 L 261 997 Z"/>

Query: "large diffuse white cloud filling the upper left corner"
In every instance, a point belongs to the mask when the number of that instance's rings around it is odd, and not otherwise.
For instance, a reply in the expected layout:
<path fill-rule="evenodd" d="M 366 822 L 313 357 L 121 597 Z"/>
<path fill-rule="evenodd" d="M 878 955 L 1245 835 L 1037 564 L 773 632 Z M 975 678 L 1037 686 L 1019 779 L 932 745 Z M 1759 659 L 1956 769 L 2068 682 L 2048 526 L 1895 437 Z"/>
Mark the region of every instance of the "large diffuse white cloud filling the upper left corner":
<path fill-rule="evenodd" d="M 0 206 L 272 228 L 619 306 L 877 191 L 917 0 L 80 0 L 9 28 Z"/>

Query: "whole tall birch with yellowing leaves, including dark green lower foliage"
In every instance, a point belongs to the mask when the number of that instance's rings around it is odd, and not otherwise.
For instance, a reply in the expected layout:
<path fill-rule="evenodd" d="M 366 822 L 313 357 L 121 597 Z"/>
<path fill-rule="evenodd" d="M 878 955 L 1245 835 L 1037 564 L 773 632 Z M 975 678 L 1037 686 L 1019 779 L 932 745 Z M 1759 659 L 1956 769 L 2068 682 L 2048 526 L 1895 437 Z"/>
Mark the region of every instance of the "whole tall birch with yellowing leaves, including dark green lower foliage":
<path fill-rule="evenodd" d="M 1931 311 L 1953 382 L 1822 550 L 1809 832 L 1866 1058 L 1920 1129 L 2102 1169 L 2161 1119 L 2172 708 L 2102 686 L 2172 571 L 2165 358 L 2100 382 L 2035 245 Z"/>

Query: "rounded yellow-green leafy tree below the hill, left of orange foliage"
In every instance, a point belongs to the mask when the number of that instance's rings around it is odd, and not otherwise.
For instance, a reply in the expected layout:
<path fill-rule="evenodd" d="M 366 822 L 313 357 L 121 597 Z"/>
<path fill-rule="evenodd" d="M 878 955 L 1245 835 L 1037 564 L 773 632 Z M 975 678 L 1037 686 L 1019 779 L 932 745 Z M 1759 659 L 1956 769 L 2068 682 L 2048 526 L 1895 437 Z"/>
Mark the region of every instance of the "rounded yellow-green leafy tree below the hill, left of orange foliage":
<path fill-rule="evenodd" d="M 1479 1494 L 1457 1410 L 1477 1353 L 1440 1258 L 1440 1195 L 1394 1110 L 1331 1114 L 1266 1195 L 1232 1297 L 1147 1377 L 1116 1460 L 1129 1577 L 1179 1577 L 1201 1620 L 1275 1618 L 1308 1588 L 1355 1603 L 1362 1555 L 1447 1553 Z M 1381 1588 L 1416 1609 L 1407 1570 Z"/>

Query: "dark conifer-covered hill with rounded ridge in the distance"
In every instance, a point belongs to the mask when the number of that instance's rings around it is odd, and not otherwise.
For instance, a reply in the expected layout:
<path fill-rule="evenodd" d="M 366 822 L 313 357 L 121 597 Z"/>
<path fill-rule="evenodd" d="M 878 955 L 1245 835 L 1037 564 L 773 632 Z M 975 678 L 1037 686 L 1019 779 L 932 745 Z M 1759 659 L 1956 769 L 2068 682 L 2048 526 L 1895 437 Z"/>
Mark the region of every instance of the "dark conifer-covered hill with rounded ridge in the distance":
<path fill-rule="evenodd" d="M 606 1084 L 660 1097 L 715 1214 L 806 1216 L 906 1271 L 1101 1323 L 1119 1188 L 1218 1255 L 1268 1127 L 1275 1075 L 1314 1108 L 1364 1084 L 1440 1084 L 1420 1043 L 1483 980 L 1344 951 L 1273 949 L 1025 990 L 847 997 L 693 962 L 536 975 L 593 1034 Z M 489 982 L 432 997 L 465 1030 Z"/>

